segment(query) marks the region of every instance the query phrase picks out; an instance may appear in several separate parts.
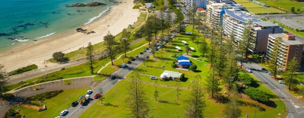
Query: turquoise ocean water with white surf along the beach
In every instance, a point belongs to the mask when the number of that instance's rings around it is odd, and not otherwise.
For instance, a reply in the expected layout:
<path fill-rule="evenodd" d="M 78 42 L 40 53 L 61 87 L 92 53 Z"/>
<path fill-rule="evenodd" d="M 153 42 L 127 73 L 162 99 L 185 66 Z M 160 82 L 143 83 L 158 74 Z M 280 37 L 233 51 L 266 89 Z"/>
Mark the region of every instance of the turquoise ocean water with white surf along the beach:
<path fill-rule="evenodd" d="M 66 7 L 100 2 L 106 6 Z M 108 0 L 1 0 L 0 50 L 89 24 L 115 3 Z"/>

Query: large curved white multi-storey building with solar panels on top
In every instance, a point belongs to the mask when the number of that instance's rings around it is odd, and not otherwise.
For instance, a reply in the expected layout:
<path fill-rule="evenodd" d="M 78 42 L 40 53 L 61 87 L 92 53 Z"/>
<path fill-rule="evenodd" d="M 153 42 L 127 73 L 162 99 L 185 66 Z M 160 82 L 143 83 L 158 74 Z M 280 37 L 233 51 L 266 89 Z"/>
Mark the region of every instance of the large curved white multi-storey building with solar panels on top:
<path fill-rule="evenodd" d="M 223 18 L 223 32 L 228 37 L 233 34 L 233 42 L 236 45 L 242 40 L 247 22 L 249 20 L 252 21 L 250 37 L 253 42 L 249 47 L 249 51 L 254 54 L 266 53 L 269 34 L 283 33 L 283 28 L 279 25 L 252 18 L 247 15 L 246 12 L 225 10 L 225 13 Z"/>

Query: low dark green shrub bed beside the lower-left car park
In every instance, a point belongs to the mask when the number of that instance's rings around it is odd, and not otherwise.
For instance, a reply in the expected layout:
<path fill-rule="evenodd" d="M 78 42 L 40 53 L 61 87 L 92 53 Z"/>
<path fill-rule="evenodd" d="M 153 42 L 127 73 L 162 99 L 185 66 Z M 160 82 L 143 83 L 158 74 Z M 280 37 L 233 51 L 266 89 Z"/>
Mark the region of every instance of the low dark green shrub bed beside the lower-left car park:
<path fill-rule="evenodd" d="M 28 97 L 26 98 L 27 101 L 35 101 L 35 100 L 46 100 L 46 99 L 50 99 L 53 98 L 55 96 L 57 96 L 58 94 L 64 92 L 63 90 L 58 90 L 58 91 L 52 91 L 52 92 L 46 92 L 43 94 L 38 94 L 36 96 L 32 96 L 32 97 Z"/>

